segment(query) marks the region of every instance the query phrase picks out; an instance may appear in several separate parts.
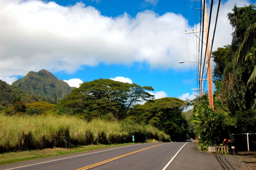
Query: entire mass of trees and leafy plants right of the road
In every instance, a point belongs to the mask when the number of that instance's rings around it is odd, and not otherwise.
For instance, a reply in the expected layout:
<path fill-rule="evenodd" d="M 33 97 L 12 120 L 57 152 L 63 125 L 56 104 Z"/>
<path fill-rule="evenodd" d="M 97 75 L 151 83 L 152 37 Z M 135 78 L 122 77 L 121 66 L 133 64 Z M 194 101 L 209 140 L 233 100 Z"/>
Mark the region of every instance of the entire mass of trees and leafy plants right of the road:
<path fill-rule="evenodd" d="M 256 132 L 255 6 L 235 4 L 227 17 L 234 29 L 232 43 L 212 52 L 214 110 L 207 93 L 186 101 L 186 106 L 193 106 L 189 122 L 202 150 L 232 145 L 232 134 Z"/>

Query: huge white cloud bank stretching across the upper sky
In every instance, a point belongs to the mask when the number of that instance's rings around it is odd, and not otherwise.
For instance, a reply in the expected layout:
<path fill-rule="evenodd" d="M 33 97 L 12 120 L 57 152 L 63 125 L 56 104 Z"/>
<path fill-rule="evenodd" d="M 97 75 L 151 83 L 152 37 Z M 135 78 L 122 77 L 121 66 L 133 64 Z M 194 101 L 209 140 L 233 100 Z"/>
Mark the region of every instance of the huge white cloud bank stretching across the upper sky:
<path fill-rule="evenodd" d="M 235 3 L 250 4 L 247 0 L 221 3 L 213 50 L 231 42 L 232 28 L 226 15 Z M 181 14 L 172 12 L 159 16 L 147 10 L 135 18 L 126 13 L 106 17 L 83 3 L 60 6 L 39 0 L 1 0 L 0 76 L 41 69 L 74 73 L 83 65 L 100 62 L 146 62 L 152 68 L 188 69 L 188 65 L 178 64 L 188 60 L 184 23 Z M 187 23 L 187 31 L 191 30 Z M 187 36 L 189 55 L 193 56 L 193 35 Z"/>

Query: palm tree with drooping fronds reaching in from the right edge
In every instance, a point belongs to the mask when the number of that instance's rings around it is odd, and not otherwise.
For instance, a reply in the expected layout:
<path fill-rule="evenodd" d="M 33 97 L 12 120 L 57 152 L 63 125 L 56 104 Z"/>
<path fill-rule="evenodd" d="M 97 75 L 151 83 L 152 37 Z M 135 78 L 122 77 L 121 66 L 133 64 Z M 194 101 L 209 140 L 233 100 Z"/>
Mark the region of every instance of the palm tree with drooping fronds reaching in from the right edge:
<path fill-rule="evenodd" d="M 251 49 L 255 43 L 256 43 L 256 22 L 252 24 L 252 26 L 249 27 L 245 33 L 244 41 L 239 48 L 236 64 L 240 65 L 244 60 L 244 58 L 247 59 L 248 56 L 252 57 L 252 53 L 248 55 L 246 54 L 247 54 L 247 51 Z M 254 51 L 255 50 L 256 49 L 254 48 Z M 250 81 L 255 80 L 255 78 L 256 78 L 256 66 L 252 71 L 252 74 L 247 82 L 247 85 Z"/>

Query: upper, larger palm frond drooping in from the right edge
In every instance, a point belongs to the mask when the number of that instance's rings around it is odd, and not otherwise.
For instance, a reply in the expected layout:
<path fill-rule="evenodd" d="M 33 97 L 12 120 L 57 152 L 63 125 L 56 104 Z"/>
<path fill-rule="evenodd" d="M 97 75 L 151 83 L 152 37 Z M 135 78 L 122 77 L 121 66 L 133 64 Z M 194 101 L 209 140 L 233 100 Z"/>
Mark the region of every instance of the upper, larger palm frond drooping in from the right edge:
<path fill-rule="evenodd" d="M 236 64 L 241 64 L 247 51 L 252 47 L 256 40 L 256 22 L 247 29 L 244 37 L 244 41 L 241 44 L 236 60 Z"/>

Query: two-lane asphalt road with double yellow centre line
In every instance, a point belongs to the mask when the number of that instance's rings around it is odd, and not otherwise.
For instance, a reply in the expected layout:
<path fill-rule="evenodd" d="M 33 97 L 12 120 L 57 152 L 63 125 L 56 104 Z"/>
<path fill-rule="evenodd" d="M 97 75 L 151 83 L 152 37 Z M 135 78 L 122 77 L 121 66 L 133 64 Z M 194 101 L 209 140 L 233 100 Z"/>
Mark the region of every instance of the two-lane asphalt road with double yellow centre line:
<path fill-rule="evenodd" d="M 162 170 L 186 142 L 146 143 L 98 149 L 1 165 L 2 169 L 159 169 Z M 160 145 L 159 145 L 160 144 Z M 126 154 L 126 155 L 125 155 Z M 121 157 L 120 157 L 121 156 Z M 112 158 L 115 158 L 112 160 Z M 110 159 L 110 160 L 108 160 Z M 108 161 L 106 161 L 108 160 Z M 174 160 L 174 159 L 173 159 Z M 102 162 L 103 161 L 103 162 Z M 104 162 L 105 161 L 105 162 Z M 102 162 L 100 165 L 97 164 Z M 96 165 L 93 165 L 96 164 Z M 90 166 L 92 165 L 92 166 Z"/>

